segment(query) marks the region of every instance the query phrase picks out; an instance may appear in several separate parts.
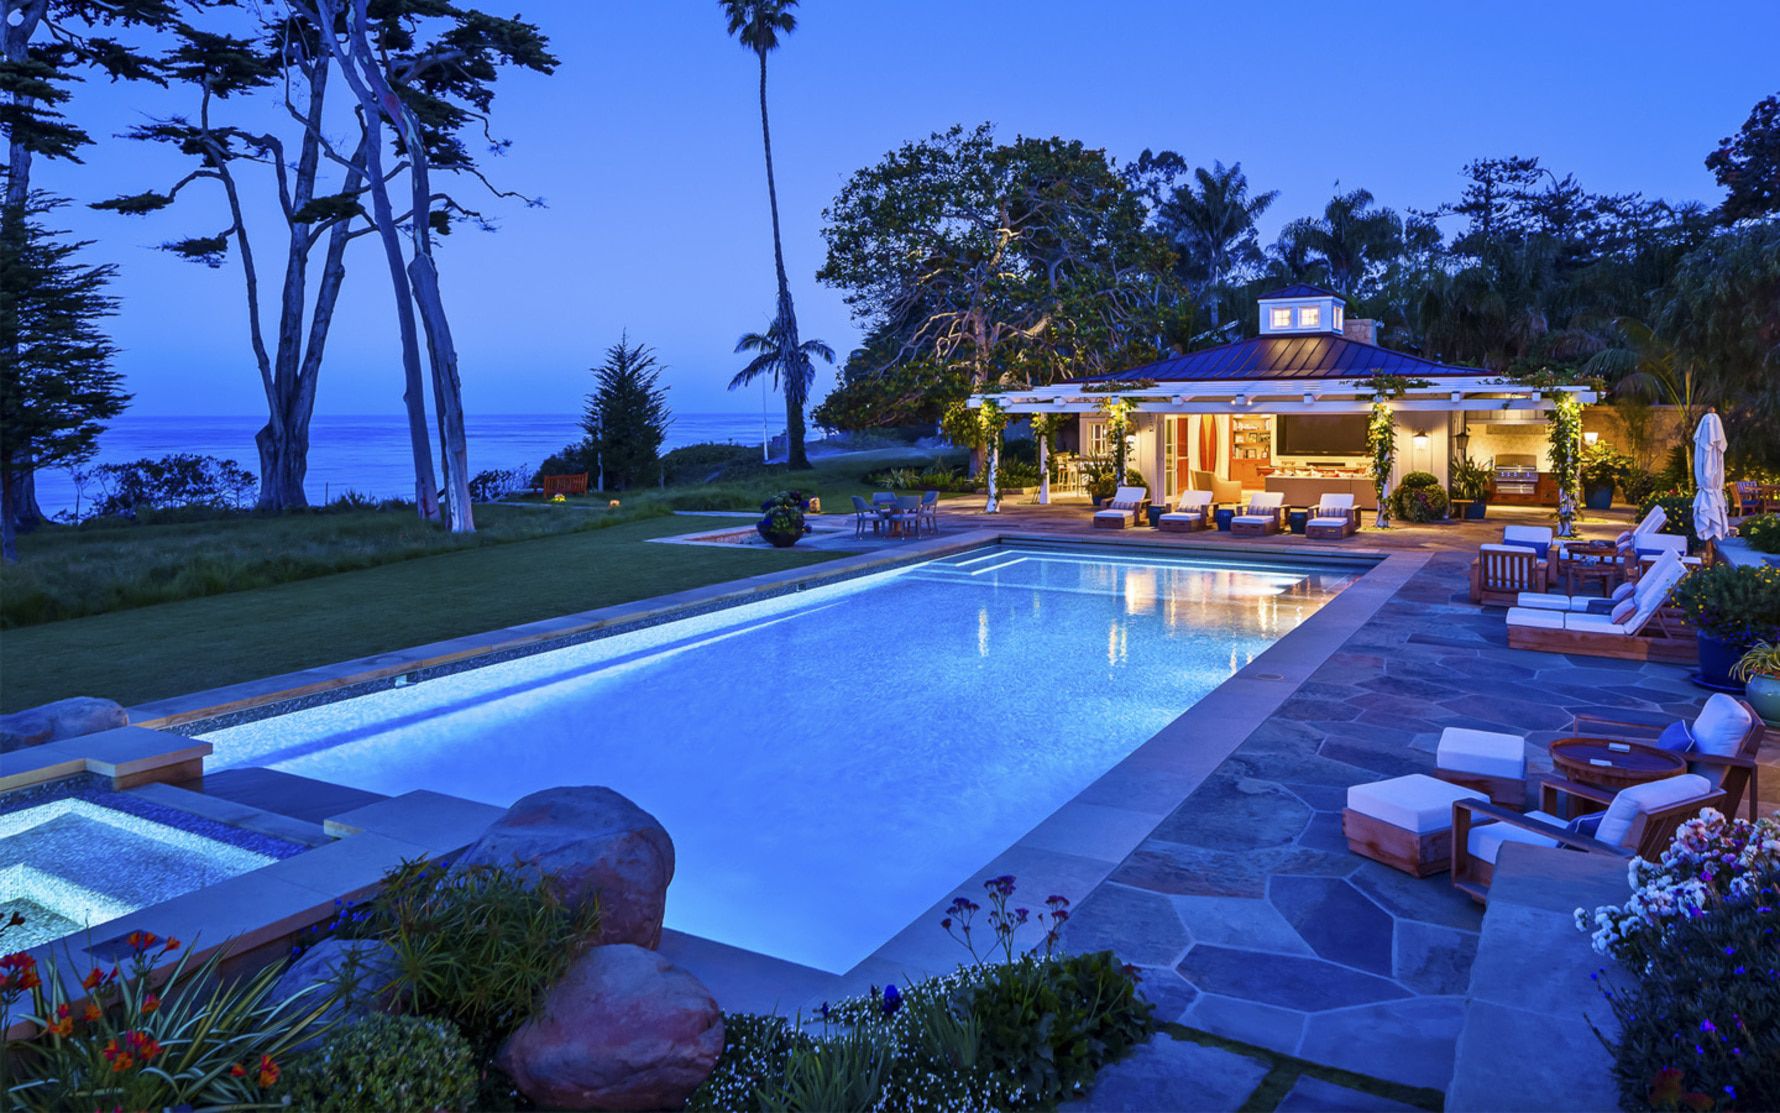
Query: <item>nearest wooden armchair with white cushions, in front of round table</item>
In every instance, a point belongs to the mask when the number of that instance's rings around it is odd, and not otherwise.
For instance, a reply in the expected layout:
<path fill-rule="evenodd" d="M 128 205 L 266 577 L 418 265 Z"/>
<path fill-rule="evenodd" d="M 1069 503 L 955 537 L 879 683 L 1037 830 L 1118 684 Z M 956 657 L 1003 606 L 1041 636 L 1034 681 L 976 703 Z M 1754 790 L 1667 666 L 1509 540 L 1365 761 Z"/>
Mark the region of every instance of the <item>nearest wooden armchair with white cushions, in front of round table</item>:
<path fill-rule="evenodd" d="M 1452 803 L 1454 889 L 1479 903 L 1488 901 L 1495 860 L 1506 842 L 1654 860 L 1682 823 L 1698 816 L 1700 808 L 1718 807 L 1725 800 L 1723 791 L 1695 773 L 1652 780 L 1620 792 L 1561 778 L 1545 778 L 1540 789 L 1543 810 L 1538 812 L 1522 814 L 1483 800 Z M 1606 810 L 1566 821 L 1554 814 L 1559 796 L 1606 805 Z"/>

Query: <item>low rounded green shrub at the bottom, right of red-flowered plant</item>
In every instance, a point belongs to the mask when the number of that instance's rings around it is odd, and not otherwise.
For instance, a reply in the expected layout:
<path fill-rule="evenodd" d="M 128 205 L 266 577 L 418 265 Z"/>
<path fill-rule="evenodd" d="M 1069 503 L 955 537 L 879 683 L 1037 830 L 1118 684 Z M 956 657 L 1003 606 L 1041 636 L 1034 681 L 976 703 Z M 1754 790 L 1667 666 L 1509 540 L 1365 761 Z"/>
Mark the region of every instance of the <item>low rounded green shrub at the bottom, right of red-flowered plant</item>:
<path fill-rule="evenodd" d="M 450 1022 L 370 1015 L 292 1065 L 290 1104 L 317 1113 L 465 1109 L 475 1083 L 470 1044 Z"/>

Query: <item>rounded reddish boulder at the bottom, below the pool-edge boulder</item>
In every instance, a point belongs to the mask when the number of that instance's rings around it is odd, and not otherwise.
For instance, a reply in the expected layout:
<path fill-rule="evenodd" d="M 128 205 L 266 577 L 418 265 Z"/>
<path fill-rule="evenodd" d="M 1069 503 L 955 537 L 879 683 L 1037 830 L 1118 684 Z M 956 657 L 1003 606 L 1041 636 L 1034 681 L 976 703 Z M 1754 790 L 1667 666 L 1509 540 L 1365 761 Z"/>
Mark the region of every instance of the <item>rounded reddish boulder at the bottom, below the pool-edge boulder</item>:
<path fill-rule="evenodd" d="M 630 944 L 589 947 L 500 1049 L 546 1109 L 678 1109 L 723 1052 L 723 1011 L 698 978 Z"/>

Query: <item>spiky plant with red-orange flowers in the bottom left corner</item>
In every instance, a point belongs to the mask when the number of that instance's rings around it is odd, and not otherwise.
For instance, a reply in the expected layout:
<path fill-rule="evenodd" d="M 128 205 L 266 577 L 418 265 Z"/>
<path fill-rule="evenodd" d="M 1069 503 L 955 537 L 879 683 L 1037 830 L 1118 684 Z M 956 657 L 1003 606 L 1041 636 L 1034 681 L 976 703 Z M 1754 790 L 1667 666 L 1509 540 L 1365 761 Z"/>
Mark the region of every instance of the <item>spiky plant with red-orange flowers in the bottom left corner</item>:
<path fill-rule="evenodd" d="M 0 958 L 0 1031 L 23 1017 L 36 1035 L 7 1040 L 9 1109 L 267 1108 L 283 1060 L 320 1022 L 329 999 L 308 990 L 271 1001 L 279 963 L 221 979 L 222 951 L 190 965 L 174 938 L 126 937 L 123 969 L 93 969 L 69 988 L 53 965 L 39 981 L 28 955 Z M 160 969 L 157 969 L 160 967 Z M 166 976 L 162 979 L 162 976 Z"/>

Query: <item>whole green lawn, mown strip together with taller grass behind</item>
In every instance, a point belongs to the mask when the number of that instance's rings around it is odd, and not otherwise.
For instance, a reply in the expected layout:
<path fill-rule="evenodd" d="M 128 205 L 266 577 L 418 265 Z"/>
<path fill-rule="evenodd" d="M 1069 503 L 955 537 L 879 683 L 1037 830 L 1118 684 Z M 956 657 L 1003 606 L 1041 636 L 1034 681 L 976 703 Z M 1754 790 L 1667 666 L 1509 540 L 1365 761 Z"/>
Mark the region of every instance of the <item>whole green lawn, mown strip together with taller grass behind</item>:
<path fill-rule="evenodd" d="M 30 577 L 103 613 L 0 630 L 0 711 L 73 695 L 141 703 L 813 565 L 835 554 L 646 541 L 701 527 L 671 509 L 756 508 L 783 486 L 838 509 L 867 490 L 860 474 L 929 459 L 869 452 L 796 477 L 627 493 L 616 516 L 603 497 L 477 508 L 482 532 L 459 540 L 374 511 L 46 531 L 0 589 L 11 602 Z"/>

